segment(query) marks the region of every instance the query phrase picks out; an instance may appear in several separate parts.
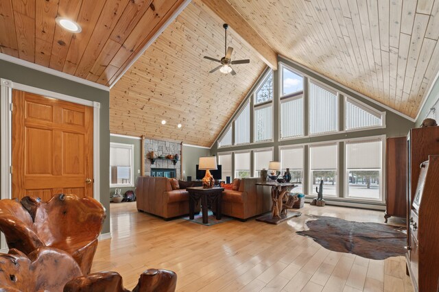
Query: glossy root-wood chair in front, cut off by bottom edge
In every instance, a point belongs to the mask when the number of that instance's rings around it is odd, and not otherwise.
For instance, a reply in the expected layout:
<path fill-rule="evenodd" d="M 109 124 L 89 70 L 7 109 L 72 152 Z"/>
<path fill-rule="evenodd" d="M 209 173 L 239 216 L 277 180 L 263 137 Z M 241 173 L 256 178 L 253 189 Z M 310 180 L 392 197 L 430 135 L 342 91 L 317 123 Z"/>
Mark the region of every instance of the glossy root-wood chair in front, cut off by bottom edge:
<path fill-rule="evenodd" d="M 148 269 L 144 271 L 134 292 L 174 292 L 177 276 L 173 271 Z M 12 249 L 0 254 L 0 291 L 10 292 L 129 292 L 122 278 L 114 271 L 82 276 L 76 261 L 62 250 L 38 247 L 29 256 Z"/>

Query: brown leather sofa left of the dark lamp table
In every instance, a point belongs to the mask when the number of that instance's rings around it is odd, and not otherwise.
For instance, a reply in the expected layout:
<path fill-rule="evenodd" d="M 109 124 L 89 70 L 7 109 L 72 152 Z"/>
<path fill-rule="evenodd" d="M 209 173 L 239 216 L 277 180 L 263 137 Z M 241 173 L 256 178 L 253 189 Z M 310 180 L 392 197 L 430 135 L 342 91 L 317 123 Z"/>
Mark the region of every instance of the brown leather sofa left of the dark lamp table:
<path fill-rule="evenodd" d="M 189 214 L 189 193 L 185 188 L 173 190 L 168 178 L 137 178 L 137 210 L 170 219 Z M 195 206 L 200 212 L 200 206 Z"/>

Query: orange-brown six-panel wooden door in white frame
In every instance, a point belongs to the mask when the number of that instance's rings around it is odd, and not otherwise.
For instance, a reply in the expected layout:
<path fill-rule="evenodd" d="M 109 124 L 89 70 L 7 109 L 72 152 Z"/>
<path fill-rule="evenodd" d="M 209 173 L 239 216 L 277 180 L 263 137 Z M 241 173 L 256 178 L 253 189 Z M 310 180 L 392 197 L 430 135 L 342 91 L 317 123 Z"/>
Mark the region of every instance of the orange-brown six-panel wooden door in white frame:
<path fill-rule="evenodd" d="M 93 197 L 93 108 L 12 91 L 12 197 Z"/>

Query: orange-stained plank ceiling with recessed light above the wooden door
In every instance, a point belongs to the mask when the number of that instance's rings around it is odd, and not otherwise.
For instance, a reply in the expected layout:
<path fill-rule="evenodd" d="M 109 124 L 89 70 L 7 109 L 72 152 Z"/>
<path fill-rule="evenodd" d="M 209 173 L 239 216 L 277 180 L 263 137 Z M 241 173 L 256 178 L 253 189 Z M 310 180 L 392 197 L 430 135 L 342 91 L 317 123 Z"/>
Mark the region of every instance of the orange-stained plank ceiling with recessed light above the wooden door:
<path fill-rule="evenodd" d="M 0 1 L 0 51 L 109 86 L 185 0 Z M 77 21 L 80 34 L 56 25 Z"/>

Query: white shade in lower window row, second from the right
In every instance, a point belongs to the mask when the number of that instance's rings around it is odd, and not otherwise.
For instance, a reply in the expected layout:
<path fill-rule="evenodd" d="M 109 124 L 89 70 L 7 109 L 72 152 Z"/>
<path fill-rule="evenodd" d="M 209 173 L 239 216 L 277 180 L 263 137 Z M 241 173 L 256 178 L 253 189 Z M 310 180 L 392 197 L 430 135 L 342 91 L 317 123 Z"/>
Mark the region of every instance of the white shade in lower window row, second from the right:
<path fill-rule="evenodd" d="M 311 169 L 337 169 L 337 145 L 313 145 L 309 147 Z"/>

